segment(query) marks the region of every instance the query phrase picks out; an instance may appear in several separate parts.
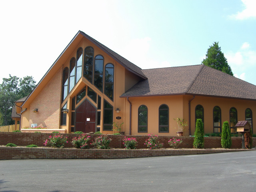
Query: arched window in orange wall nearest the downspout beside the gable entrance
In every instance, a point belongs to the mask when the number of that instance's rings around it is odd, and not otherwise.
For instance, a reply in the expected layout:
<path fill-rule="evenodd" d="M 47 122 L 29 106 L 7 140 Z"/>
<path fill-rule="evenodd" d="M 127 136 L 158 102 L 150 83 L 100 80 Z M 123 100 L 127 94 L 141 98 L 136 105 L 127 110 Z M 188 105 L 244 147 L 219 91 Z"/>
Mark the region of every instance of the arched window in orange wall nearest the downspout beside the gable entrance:
<path fill-rule="evenodd" d="M 138 132 L 148 132 L 148 108 L 146 105 L 141 105 L 138 108 Z"/>

